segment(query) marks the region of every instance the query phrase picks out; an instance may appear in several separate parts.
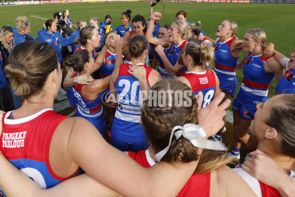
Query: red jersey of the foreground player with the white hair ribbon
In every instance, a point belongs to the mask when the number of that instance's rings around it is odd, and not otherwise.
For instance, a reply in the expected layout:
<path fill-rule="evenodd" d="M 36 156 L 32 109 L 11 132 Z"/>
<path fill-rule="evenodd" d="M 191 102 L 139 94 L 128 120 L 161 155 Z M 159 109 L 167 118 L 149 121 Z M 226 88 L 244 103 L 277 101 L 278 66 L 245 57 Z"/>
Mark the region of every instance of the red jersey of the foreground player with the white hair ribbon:
<path fill-rule="evenodd" d="M 151 159 L 148 150 L 139 151 L 138 153 L 128 152 L 128 156 L 146 168 L 155 164 Z M 209 197 L 210 178 L 211 172 L 193 173 L 181 191 L 177 194 L 177 197 Z"/>

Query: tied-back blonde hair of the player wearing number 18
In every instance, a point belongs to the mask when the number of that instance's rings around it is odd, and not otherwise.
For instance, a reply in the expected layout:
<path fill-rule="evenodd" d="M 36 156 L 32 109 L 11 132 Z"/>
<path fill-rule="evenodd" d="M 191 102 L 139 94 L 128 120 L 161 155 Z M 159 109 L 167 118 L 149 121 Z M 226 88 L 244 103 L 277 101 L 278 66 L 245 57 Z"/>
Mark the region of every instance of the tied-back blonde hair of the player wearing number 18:
<path fill-rule="evenodd" d="M 213 48 L 208 43 L 201 40 L 191 40 L 184 48 L 186 55 L 190 55 L 195 63 L 195 66 L 202 66 L 203 70 L 206 70 L 207 63 L 210 63 L 214 58 Z"/>

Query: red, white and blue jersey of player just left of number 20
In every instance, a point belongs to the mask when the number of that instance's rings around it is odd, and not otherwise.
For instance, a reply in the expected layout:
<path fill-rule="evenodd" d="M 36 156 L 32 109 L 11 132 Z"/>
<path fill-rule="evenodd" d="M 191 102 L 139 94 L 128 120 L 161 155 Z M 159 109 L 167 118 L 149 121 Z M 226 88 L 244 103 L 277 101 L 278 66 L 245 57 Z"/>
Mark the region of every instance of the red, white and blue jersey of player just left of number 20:
<path fill-rule="evenodd" d="M 78 72 L 72 77 L 78 76 Z M 104 136 L 106 134 L 106 126 L 103 118 L 102 96 L 99 93 L 93 100 L 85 99 L 82 95 L 83 84 L 75 84 L 73 88 L 75 101 L 77 102 L 76 116 L 87 119 L 96 129 Z"/>

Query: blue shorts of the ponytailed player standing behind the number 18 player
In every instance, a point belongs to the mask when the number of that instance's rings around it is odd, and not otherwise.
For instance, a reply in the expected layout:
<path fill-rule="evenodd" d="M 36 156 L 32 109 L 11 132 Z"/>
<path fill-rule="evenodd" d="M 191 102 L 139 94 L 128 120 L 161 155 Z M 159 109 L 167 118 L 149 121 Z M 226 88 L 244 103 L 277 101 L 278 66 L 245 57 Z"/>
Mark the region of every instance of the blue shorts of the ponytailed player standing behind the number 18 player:
<path fill-rule="evenodd" d="M 216 73 L 217 74 L 217 73 Z M 219 88 L 225 95 L 231 95 L 233 98 L 236 96 L 237 80 L 236 75 L 221 75 L 217 74 L 219 79 Z"/>

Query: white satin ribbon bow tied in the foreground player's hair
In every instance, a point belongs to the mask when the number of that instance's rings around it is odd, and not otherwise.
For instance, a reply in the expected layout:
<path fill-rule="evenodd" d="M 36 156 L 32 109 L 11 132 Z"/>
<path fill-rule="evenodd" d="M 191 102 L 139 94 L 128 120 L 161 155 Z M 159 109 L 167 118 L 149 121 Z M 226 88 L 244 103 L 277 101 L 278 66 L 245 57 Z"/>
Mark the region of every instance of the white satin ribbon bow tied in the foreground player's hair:
<path fill-rule="evenodd" d="M 185 124 L 183 127 L 175 126 L 172 129 L 168 146 L 155 155 L 156 162 L 160 162 L 162 157 L 164 157 L 164 155 L 168 152 L 173 134 L 175 135 L 176 139 L 179 139 L 179 137 L 182 135 L 185 139 L 189 140 L 192 145 L 199 148 L 219 151 L 227 150 L 227 147 L 223 143 L 203 139 L 203 137 L 207 135 L 207 132 L 201 125 Z"/>

